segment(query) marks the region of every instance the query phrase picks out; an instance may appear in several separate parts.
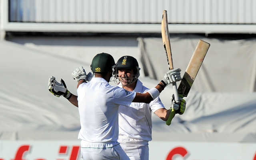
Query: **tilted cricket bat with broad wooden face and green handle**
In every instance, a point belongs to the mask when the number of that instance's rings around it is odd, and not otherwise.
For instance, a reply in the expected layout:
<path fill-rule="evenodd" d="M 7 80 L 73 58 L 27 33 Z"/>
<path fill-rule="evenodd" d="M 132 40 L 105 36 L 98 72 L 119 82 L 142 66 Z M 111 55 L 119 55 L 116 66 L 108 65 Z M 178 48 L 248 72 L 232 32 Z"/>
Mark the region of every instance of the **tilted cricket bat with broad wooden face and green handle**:
<path fill-rule="evenodd" d="M 204 57 L 206 56 L 209 47 L 209 43 L 201 39 L 199 40 L 178 87 L 178 94 L 181 98 L 188 96 L 188 93 L 194 83 L 196 75 L 202 65 L 202 62 L 204 61 Z M 171 124 L 174 115 L 175 111 L 172 111 L 170 117 L 166 121 L 166 125 Z"/>

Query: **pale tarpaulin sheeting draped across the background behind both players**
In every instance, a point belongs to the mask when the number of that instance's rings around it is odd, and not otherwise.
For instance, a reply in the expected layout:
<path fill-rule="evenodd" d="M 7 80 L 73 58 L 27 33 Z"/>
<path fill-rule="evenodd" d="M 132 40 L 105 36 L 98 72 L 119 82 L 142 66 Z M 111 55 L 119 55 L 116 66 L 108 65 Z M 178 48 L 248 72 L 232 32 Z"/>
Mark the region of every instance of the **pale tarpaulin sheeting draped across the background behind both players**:
<path fill-rule="evenodd" d="M 171 39 L 174 68 L 181 68 L 182 74 L 199 39 Z M 162 39 L 140 40 L 149 59 L 144 62 L 150 61 L 162 79 L 168 70 Z M 170 126 L 153 114 L 153 140 L 256 142 L 255 40 L 203 40 L 211 47 L 186 98 L 186 112 L 176 115 Z M 62 78 L 76 94 L 71 73 L 81 65 L 90 71 L 89 63 L 8 41 L 0 41 L 0 55 L 0 140 L 77 139 L 78 109 L 65 98 L 50 94 L 47 84 L 50 76 Z M 148 88 L 159 82 L 140 79 Z M 167 109 L 172 94 L 168 86 L 160 95 Z"/>

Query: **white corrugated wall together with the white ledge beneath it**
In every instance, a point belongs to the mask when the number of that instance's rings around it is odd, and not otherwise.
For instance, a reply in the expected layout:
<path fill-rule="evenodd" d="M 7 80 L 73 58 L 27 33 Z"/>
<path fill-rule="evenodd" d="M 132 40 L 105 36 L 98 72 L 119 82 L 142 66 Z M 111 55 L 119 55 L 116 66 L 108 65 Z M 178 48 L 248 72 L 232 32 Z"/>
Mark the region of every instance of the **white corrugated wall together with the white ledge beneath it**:
<path fill-rule="evenodd" d="M 0 2 L 4 32 L 161 33 L 167 10 L 170 33 L 256 33 L 252 0 L 11 0 L 13 22 Z"/>

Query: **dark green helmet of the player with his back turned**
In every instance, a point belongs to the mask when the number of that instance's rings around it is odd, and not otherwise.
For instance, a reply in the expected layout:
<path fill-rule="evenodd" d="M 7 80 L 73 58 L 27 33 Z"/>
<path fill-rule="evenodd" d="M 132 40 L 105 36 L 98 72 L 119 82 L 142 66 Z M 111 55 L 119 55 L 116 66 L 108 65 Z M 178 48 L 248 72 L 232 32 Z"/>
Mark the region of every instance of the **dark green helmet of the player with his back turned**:
<path fill-rule="evenodd" d="M 108 53 L 99 53 L 92 59 L 91 70 L 95 73 L 104 73 L 112 69 L 115 60 Z"/>

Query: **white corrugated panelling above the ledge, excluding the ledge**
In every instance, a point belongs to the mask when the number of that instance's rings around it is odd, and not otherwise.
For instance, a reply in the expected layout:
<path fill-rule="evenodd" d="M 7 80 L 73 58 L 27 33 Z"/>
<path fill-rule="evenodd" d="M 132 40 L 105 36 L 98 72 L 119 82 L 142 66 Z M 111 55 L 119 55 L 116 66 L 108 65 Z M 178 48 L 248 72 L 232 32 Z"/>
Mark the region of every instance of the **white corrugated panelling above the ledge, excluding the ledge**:
<path fill-rule="evenodd" d="M 256 24 L 254 0 L 10 0 L 12 21 Z"/>

